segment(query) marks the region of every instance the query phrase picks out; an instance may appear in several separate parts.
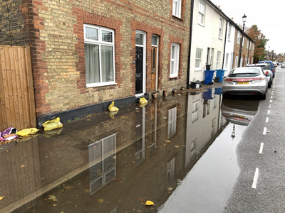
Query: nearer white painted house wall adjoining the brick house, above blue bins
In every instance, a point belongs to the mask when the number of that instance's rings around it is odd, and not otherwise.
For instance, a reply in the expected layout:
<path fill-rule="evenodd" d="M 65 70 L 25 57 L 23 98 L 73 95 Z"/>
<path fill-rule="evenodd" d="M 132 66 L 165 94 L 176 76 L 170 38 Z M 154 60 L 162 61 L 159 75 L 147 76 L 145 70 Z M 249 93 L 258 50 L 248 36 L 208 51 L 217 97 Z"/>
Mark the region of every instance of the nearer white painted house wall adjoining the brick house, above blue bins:
<path fill-rule="evenodd" d="M 198 23 L 199 2 L 204 4 L 204 25 Z M 222 18 L 222 38 L 219 38 L 219 18 Z M 207 1 L 195 0 L 193 6 L 192 46 L 190 56 L 190 82 L 195 80 L 204 81 L 204 70 L 206 70 L 207 50 L 213 49 L 211 70 L 222 69 L 222 58 L 224 57 L 224 36 L 227 19 Z M 234 34 L 233 34 L 234 36 Z M 196 50 L 202 50 L 202 59 L 199 68 L 195 67 Z M 217 52 L 220 52 L 219 65 L 217 67 Z"/>

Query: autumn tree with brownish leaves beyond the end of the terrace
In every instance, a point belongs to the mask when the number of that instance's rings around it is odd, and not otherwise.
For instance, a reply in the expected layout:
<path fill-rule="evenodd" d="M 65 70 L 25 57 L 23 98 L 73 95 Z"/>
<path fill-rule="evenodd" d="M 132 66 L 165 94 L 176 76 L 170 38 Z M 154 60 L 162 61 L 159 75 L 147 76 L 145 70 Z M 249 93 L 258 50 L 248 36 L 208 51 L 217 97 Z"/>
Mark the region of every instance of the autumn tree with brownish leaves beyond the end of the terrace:
<path fill-rule="evenodd" d="M 249 35 L 252 40 L 255 42 L 254 48 L 254 62 L 259 62 L 259 60 L 264 60 L 265 56 L 265 46 L 269 39 L 261 33 L 261 30 L 257 27 L 257 25 L 253 25 L 248 28 L 246 31 L 247 35 Z"/>

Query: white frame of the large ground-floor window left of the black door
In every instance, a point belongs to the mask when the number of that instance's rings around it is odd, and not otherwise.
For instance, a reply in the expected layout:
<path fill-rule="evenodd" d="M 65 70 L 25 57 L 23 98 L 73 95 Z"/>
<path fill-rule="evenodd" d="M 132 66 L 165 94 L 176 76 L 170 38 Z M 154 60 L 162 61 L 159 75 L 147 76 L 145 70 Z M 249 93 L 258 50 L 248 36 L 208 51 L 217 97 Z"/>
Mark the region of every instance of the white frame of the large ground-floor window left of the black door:
<path fill-rule="evenodd" d="M 98 40 L 92 40 L 92 39 L 86 38 L 86 27 L 98 30 Z M 99 45 L 99 62 L 100 62 L 100 64 L 99 64 L 100 82 L 90 83 L 90 84 L 88 84 L 86 82 L 86 87 L 100 87 L 100 86 L 116 84 L 115 83 L 115 31 L 113 31 L 110 28 L 104 28 L 104 27 L 90 25 L 90 24 L 84 24 L 83 25 L 83 31 L 84 31 L 84 43 Z M 101 36 L 102 35 L 101 34 L 102 31 L 108 31 L 108 32 L 112 33 L 112 42 L 102 41 L 102 36 Z M 112 82 L 102 82 L 102 74 L 101 74 L 101 70 L 102 70 L 101 69 L 101 45 L 110 46 L 110 47 L 113 48 L 113 81 Z"/>

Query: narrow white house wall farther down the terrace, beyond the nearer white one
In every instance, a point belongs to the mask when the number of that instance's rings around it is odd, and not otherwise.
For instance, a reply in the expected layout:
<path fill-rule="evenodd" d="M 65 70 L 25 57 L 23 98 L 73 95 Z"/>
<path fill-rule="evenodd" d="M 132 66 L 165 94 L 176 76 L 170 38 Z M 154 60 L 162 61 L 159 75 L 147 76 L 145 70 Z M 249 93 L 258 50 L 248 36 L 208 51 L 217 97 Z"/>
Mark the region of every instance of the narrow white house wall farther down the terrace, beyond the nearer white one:
<path fill-rule="evenodd" d="M 229 26 L 231 26 L 231 36 L 228 38 Z M 226 48 L 224 49 L 224 76 L 226 76 L 230 70 L 234 67 L 234 58 L 236 55 L 234 53 L 234 39 L 235 39 L 235 31 L 236 28 L 231 23 L 227 24 L 227 39 L 226 39 Z M 227 54 L 229 54 L 229 58 L 227 61 Z"/>

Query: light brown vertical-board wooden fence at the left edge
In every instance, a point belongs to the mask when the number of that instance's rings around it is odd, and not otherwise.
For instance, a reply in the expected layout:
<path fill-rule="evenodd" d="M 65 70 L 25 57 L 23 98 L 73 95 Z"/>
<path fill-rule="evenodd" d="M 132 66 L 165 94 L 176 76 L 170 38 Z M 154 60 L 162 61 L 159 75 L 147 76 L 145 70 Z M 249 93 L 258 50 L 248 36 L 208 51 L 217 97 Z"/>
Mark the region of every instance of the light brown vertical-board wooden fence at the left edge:
<path fill-rule="evenodd" d="M 0 45 L 0 131 L 36 127 L 31 50 Z"/>

